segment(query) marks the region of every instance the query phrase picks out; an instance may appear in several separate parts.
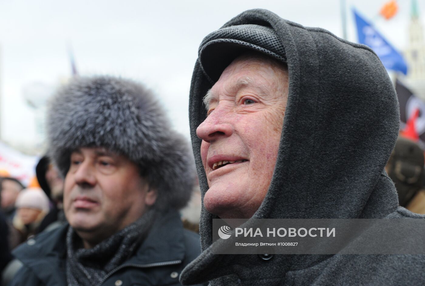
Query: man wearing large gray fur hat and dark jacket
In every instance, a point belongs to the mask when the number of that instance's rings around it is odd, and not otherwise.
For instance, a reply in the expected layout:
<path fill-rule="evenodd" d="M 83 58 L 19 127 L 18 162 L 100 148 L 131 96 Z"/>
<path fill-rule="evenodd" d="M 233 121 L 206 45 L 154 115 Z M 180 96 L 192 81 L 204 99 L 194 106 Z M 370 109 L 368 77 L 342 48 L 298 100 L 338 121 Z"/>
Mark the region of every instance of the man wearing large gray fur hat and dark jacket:
<path fill-rule="evenodd" d="M 48 144 L 69 225 L 14 252 L 24 266 L 11 285 L 179 285 L 200 252 L 177 212 L 193 160 L 153 95 L 124 79 L 74 79 L 48 109 Z"/>

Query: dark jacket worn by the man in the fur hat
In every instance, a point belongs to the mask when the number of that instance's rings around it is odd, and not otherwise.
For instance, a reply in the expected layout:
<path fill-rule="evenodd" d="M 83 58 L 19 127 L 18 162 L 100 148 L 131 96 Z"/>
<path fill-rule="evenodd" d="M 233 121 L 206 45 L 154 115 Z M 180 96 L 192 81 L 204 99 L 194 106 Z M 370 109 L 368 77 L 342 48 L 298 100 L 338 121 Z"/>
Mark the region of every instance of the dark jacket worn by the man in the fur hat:
<path fill-rule="evenodd" d="M 15 258 L 24 266 L 9 285 L 67 285 L 68 227 L 66 224 L 41 233 L 14 250 Z M 109 273 L 102 285 L 180 285 L 178 276 L 182 269 L 199 253 L 199 236 L 183 229 L 178 213 L 168 213 L 154 224 L 135 255 Z"/>

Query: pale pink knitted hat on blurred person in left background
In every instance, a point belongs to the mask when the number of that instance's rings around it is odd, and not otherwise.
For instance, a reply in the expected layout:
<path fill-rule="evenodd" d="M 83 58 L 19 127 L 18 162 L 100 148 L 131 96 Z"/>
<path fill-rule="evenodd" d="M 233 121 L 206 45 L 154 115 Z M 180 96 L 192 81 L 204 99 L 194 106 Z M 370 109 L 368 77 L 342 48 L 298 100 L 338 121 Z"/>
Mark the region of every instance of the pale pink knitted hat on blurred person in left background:
<path fill-rule="evenodd" d="M 48 212 L 49 199 L 41 188 L 27 188 L 20 191 L 15 206 L 34 208 Z"/>

